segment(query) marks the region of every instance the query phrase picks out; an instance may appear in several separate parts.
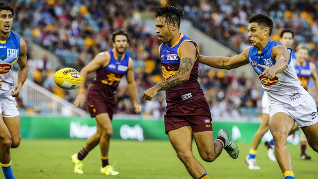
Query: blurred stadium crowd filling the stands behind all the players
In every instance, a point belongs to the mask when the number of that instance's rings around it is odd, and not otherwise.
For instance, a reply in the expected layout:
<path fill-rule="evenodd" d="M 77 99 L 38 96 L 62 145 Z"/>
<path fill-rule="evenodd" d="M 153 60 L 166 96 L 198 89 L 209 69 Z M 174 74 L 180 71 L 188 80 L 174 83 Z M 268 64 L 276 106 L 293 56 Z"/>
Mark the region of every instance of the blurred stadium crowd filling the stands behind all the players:
<path fill-rule="evenodd" d="M 9 1 L 10 2 L 10 1 Z M 56 54 L 60 67 L 52 69 L 47 56 L 34 59 L 29 54 L 31 79 L 73 102 L 74 90 L 61 90 L 54 85 L 52 75 L 62 67 L 80 70 L 100 51 L 112 48 L 111 34 L 126 29 L 131 37 L 129 53 L 135 64 L 138 93 L 160 82 L 161 70 L 158 38 L 152 34 L 144 18 L 154 18 L 160 3 L 179 3 L 185 18 L 196 27 L 235 51 L 250 45 L 246 26 L 250 15 L 268 14 L 274 21 L 272 39 L 279 40 L 282 28 L 295 31 L 295 45 L 310 48 L 311 60 L 318 58 L 318 5 L 305 0 L 17 0 L 12 1 L 16 14 L 14 31 L 27 41 L 42 45 Z M 213 117 L 255 116 L 260 113 L 260 85 L 245 74 L 235 71 L 215 71 L 200 66 L 200 84 L 204 89 Z M 88 87 L 93 74 L 88 78 Z M 165 94 L 153 101 L 144 101 L 144 116 L 161 118 L 165 112 Z M 117 113 L 134 113 L 125 79 L 117 93 Z"/>

